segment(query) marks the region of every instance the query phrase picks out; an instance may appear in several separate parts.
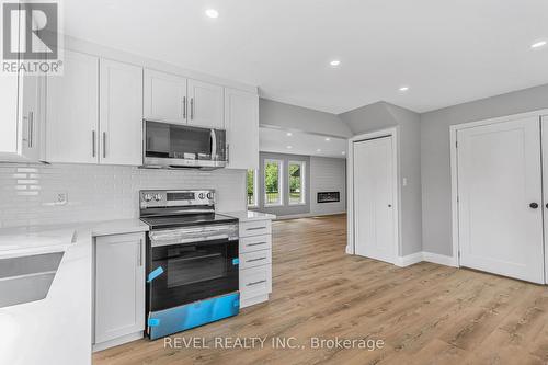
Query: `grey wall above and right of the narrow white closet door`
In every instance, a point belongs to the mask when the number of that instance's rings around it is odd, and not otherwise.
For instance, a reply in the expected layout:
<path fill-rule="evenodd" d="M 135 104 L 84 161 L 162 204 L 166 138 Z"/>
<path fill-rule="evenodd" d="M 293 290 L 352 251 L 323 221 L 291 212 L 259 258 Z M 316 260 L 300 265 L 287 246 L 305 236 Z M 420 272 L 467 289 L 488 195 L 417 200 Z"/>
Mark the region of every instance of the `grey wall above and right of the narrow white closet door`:
<path fill-rule="evenodd" d="M 422 250 L 421 198 L 421 124 L 420 115 L 403 107 L 378 102 L 339 115 L 354 135 L 399 127 L 401 178 L 401 252 L 407 255 Z"/>

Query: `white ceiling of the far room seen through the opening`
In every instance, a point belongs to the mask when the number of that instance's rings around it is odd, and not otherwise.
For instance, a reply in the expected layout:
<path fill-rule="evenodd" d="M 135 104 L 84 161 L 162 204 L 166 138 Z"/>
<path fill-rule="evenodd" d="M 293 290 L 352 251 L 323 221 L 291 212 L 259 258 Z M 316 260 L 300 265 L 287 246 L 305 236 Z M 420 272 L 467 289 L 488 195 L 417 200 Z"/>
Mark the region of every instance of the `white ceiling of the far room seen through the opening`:
<path fill-rule="evenodd" d="M 262 152 L 346 158 L 342 153 L 346 152 L 346 139 L 302 132 L 290 132 L 292 135 L 288 136 L 287 133 L 283 129 L 261 127 L 259 132 L 260 150 Z"/>

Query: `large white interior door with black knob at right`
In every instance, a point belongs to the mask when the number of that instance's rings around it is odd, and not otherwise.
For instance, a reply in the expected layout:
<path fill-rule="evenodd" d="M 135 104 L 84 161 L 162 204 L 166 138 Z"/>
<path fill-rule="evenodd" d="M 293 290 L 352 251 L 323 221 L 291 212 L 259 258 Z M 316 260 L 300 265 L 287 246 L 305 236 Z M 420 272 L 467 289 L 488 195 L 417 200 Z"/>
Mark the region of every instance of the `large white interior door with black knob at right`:
<path fill-rule="evenodd" d="M 544 283 L 538 117 L 457 133 L 460 265 Z"/>

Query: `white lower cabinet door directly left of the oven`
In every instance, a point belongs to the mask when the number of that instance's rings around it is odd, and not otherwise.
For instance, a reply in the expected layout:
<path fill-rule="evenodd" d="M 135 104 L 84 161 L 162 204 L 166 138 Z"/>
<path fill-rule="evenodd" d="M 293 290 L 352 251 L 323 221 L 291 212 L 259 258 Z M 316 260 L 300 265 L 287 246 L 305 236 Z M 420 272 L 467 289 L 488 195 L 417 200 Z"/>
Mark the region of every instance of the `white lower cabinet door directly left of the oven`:
<path fill-rule="evenodd" d="M 95 341 L 145 330 L 145 235 L 95 241 Z"/>

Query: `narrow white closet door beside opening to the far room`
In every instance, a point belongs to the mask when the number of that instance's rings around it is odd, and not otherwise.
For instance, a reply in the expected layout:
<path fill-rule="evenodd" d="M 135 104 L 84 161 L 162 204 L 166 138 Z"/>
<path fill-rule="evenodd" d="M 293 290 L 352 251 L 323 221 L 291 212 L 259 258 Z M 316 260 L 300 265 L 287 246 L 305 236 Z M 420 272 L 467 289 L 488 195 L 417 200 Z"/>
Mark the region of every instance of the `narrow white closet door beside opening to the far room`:
<path fill-rule="evenodd" d="M 393 263 L 396 209 L 392 137 L 354 142 L 355 253 Z"/>

